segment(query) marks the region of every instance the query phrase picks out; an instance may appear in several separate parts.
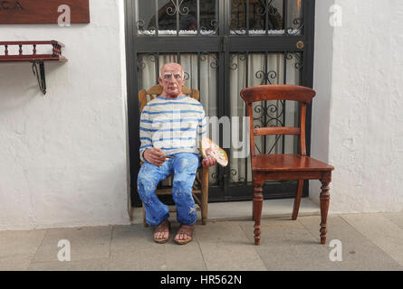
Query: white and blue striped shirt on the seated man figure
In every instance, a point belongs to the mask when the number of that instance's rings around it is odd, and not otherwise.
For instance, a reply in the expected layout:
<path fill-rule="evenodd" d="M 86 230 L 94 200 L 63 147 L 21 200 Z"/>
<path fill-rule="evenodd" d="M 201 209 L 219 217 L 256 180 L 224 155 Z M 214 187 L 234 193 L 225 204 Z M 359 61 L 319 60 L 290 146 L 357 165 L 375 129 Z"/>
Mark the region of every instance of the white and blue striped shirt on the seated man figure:
<path fill-rule="evenodd" d="M 139 125 L 140 159 L 149 147 L 167 155 L 200 154 L 200 140 L 206 135 L 205 109 L 195 98 L 157 97 L 143 108 Z"/>

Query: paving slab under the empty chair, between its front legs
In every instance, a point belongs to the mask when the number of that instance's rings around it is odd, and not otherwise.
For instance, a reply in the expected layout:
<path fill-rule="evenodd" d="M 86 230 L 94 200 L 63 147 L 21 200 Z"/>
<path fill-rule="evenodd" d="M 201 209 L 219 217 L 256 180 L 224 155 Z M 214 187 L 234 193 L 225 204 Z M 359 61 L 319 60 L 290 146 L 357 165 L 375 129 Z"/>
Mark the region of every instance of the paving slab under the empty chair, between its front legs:
<path fill-rule="evenodd" d="M 301 223 L 291 219 L 262 221 L 259 246 L 254 246 L 268 270 L 331 270 L 327 250 Z M 254 221 L 242 222 L 254 244 Z"/>

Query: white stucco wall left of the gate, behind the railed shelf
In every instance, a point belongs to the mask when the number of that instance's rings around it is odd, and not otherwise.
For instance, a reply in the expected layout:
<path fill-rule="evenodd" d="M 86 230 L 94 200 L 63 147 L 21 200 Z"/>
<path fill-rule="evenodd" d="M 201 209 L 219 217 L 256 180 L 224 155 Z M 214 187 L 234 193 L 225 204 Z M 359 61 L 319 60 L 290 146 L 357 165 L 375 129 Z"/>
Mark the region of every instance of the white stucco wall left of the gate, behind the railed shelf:
<path fill-rule="evenodd" d="M 90 24 L 0 26 L 69 59 L 45 97 L 29 63 L 0 64 L 0 229 L 129 223 L 123 1 L 90 5 Z"/>

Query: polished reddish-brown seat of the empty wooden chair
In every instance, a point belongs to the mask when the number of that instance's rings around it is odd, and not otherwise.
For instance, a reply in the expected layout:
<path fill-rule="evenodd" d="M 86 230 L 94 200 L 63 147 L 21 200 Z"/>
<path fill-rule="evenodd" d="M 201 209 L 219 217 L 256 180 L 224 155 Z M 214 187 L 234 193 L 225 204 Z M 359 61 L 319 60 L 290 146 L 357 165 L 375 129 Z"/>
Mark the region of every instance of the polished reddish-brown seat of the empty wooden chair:
<path fill-rule="evenodd" d="M 259 154 L 252 157 L 252 171 L 295 172 L 332 171 L 334 167 L 300 154 Z"/>

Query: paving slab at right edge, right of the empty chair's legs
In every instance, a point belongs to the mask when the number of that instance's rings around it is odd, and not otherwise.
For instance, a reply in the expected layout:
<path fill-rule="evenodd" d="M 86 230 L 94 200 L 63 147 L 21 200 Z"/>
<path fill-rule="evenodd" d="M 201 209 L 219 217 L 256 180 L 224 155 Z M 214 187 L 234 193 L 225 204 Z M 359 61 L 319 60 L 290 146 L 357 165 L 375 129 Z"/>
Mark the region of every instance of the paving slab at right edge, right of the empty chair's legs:
<path fill-rule="evenodd" d="M 403 266 L 403 229 L 382 214 L 342 215 L 361 235 Z"/>

